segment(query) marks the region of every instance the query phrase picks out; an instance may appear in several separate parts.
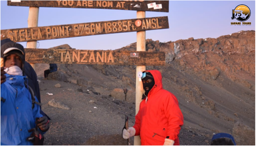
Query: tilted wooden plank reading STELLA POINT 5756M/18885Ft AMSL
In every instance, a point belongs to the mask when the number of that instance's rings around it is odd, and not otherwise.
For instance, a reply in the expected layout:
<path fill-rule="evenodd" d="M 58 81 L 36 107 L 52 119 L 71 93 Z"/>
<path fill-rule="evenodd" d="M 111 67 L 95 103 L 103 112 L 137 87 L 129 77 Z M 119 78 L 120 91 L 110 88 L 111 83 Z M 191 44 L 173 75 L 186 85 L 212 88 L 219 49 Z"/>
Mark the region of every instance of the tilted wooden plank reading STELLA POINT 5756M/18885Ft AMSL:
<path fill-rule="evenodd" d="M 1 30 L 1 40 L 9 38 L 14 42 L 38 41 L 164 28 L 169 28 L 167 16 L 69 25 L 53 25 L 46 27 L 5 29 Z"/>

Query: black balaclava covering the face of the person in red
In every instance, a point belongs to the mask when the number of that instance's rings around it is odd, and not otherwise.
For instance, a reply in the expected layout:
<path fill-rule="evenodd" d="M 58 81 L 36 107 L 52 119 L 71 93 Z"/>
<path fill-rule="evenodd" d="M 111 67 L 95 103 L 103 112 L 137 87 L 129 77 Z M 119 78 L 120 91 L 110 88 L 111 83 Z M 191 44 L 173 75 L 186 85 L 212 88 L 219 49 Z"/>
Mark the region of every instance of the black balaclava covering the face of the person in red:
<path fill-rule="evenodd" d="M 148 79 L 151 79 L 152 82 L 148 83 Z M 143 81 L 145 83 L 143 83 Z M 155 80 L 152 76 L 152 74 L 150 72 L 146 72 L 146 77 L 142 79 L 142 83 L 143 83 L 143 89 L 144 89 L 144 94 L 142 95 L 142 99 L 146 98 L 146 96 L 148 96 L 149 91 L 154 87 L 155 85 Z M 148 88 L 148 90 L 146 90 Z"/>

